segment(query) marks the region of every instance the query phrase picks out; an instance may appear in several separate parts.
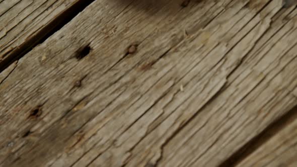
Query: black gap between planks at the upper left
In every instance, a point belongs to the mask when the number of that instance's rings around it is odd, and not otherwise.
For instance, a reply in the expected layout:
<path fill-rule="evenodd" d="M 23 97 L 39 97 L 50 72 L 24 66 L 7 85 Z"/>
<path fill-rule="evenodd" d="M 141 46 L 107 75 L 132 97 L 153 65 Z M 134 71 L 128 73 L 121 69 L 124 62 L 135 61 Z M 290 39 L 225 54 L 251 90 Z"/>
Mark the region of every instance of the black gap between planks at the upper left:
<path fill-rule="evenodd" d="M 6 69 L 14 61 L 19 60 L 35 46 L 43 43 L 46 39 L 52 36 L 55 32 L 59 31 L 80 12 L 87 8 L 95 0 L 79 0 L 68 9 L 61 12 L 58 16 L 52 19 L 47 25 L 42 27 L 38 32 L 28 37 L 27 40 L 5 55 L 3 61 L 0 61 L 0 72 Z"/>

